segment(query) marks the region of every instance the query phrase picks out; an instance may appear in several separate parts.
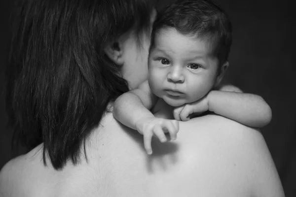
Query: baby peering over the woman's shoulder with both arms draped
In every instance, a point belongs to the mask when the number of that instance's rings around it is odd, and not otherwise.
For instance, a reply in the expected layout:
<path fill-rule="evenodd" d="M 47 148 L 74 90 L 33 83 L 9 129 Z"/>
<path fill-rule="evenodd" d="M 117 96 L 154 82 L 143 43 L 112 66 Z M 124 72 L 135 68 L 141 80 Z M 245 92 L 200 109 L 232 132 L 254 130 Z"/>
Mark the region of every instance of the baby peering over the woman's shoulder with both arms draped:
<path fill-rule="evenodd" d="M 175 140 L 178 121 L 207 111 L 265 126 L 271 110 L 261 97 L 219 88 L 230 45 L 231 23 L 220 7 L 209 0 L 177 0 L 153 25 L 148 80 L 116 99 L 113 116 L 144 135 L 148 154 L 153 135 L 165 142 L 169 132 Z"/>

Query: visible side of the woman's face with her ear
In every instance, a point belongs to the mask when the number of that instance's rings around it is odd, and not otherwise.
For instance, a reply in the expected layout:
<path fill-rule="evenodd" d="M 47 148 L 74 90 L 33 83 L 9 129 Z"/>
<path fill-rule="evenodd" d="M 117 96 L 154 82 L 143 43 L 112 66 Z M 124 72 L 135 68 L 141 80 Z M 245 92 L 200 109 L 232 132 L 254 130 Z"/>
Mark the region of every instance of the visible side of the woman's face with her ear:
<path fill-rule="evenodd" d="M 121 75 L 127 80 L 130 89 L 137 88 L 147 79 L 150 34 L 155 17 L 156 11 L 153 9 L 150 16 L 151 28 L 147 32 L 129 31 L 105 47 L 109 59 L 121 66 Z"/>

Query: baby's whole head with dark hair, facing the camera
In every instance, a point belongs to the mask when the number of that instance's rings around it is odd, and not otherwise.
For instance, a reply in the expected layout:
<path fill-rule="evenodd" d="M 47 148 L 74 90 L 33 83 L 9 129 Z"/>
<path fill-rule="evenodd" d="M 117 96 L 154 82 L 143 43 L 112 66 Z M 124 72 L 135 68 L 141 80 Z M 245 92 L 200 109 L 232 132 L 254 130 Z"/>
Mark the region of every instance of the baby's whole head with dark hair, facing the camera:
<path fill-rule="evenodd" d="M 231 24 L 208 0 L 177 0 L 159 13 L 152 30 L 149 85 L 172 106 L 203 98 L 228 67 Z"/>

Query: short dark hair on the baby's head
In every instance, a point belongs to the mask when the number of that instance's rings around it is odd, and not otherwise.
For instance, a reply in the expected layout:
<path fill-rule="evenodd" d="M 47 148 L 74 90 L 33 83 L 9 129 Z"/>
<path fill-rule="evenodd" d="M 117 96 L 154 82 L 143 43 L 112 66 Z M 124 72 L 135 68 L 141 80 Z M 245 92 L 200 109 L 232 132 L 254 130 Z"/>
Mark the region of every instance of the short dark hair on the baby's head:
<path fill-rule="evenodd" d="M 220 66 L 227 61 L 232 28 L 227 14 L 216 3 L 210 0 L 176 0 L 159 12 L 153 25 L 150 50 L 154 46 L 155 34 L 170 28 L 210 41 Z"/>

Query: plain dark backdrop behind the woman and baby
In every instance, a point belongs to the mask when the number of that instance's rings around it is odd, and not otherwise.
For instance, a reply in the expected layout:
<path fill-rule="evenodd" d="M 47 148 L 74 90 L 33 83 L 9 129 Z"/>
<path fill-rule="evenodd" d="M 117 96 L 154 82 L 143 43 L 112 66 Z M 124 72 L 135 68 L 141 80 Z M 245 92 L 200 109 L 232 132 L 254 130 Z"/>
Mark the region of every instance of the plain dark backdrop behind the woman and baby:
<path fill-rule="evenodd" d="M 9 39 L 8 17 L 14 0 L 0 1 L 0 90 Z M 172 0 L 159 0 L 159 7 Z M 296 72 L 293 6 L 289 0 L 216 0 L 233 25 L 230 67 L 225 82 L 259 94 L 271 106 L 272 122 L 261 131 L 280 174 L 287 197 L 296 195 Z M 12 157 L 0 97 L 0 168 Z M 294 166 L 294 167 L 293 167 Z M 294 194 L 294 195 L 293 195 Z"/>

